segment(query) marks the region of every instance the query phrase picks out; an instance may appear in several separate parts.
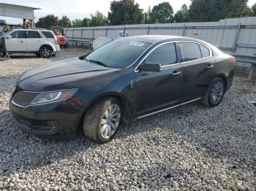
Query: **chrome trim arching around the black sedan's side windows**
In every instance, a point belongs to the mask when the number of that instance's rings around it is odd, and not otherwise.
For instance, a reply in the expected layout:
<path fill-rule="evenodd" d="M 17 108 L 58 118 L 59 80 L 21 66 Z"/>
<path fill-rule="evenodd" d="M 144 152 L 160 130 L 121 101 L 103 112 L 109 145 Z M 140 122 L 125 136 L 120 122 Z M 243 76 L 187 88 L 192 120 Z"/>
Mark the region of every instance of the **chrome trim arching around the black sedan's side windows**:
<path fill-rule="evenodd" d="M 203 43 L 200 43 L 200 42 L 195 42 L 195 41 L 190 41 L 190 40 L 163 42 L 162 44 L 158 44 L 158 45 L 157 45 L 156 47 L 154 47 L 150 52 L 148 52 L 147 55 L 144 56 L 144 58 L 140 61 L 140 63 L 138 64 L 138 66 L 136 66 L 135 72 L 139 72 L 138 67 L 141 65 L 141 63 L 143 63 L 143 61 L 145 61 L 145 59 L 148 57 L 148 55 L 151 54 L 151 52 L 153 52 L 155 49 L 157 49 L 157 47 L 160 47 L 160 46 L 162 46 L 162 45 L 164 45 L 164 44 L 170 44 L 170 43 L 176 43 L 176 42 L 191 42 L 191 43 L 195 43 L 195 44 L 201 44 L 201 45 L 203 45 L 204 47 L 208 48 L 208 50 L 210 51 L 210 56 L 208 56 L 208 57 L 196 59 L 196 60 L 193 60 L 193 61 L 179 62 L 179 63 L 190 63 L 190 62 L 200 61 L 200 60 L 203 60 L 203 59 L 206 59 L 206 58 L 211 58 L 211 57 L 213 57 L 213 52 L 212 52 L 211 48 L 208 47 L 206 44 L 203 44 Z M 156 43 L 154 43 L 154 44 L 156 44 Z M 152 45 L 154 45 L 154 44 L 152 44 Z M 151 46 L 150 46 L 150 47 L 151 47 Z M 148 47 L 148 48 L 149 48 L 149 47 Z M 161 68 L 165 68 L 165 67 L 167 67 L 167 66 L 176 66 L 176 65 L 179 64 L 179 63 L 171 63 L 171 64 L 169 64 L 169 65 L 161 66 Z"/>

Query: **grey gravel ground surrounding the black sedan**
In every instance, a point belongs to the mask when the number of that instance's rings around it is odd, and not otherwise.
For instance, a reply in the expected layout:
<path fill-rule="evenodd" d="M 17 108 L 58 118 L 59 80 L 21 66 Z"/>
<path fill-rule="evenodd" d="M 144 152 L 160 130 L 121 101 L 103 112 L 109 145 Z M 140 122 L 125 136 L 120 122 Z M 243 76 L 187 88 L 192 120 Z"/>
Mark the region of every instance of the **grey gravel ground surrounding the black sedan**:
<path fill-rule="evenodd" d="M 222 104 L 181 106 L 121 128 L 108 144 L 23 133 L 8 99 L 17 74 L 80 55 L 0 61 L 0 190 L 249 190 L 256 187 L 253 81 L 236 77 Z"/>

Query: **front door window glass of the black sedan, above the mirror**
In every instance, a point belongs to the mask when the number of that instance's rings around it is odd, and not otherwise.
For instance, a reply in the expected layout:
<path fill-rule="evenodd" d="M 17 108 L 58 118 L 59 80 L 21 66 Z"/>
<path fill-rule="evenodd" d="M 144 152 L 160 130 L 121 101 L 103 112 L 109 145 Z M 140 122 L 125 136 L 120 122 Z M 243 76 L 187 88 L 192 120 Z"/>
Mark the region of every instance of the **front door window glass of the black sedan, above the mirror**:
<path fill-rule="evenodd" d="M 157 47 L 146 58 L 147 63 L 160 63 L 161 66 L 166 66 L 172 63 L 177 63 L 176 47 L 174 43 L 163 44 Z"/>

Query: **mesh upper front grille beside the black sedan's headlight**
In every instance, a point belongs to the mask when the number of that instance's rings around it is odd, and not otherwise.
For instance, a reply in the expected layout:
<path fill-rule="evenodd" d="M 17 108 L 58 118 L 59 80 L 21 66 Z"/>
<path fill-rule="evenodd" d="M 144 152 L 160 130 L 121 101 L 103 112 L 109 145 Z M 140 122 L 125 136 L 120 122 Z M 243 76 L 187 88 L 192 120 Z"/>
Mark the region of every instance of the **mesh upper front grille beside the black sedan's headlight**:
<path fill-rule="evenodd" d="M 20 106 L 29 106 L 37 95 L 39 95 L 39 93 L 19 91 L 15 93 L 12 101 Z"/>

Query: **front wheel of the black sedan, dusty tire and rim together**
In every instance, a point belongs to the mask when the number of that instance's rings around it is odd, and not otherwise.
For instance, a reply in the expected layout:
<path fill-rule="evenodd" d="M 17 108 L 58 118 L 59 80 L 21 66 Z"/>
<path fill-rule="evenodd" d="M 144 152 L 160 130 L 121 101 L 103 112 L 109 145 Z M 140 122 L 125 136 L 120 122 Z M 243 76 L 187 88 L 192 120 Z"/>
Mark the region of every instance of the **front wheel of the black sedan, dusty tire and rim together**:
<path fill-rule="evenodd" d="M 111 113 L 112 115 L 108 115 Z M 83 120 L 83 132 L 87 139 L 104 144 L 115 136 L 121 125 L 121 117 L 121 102 L 117 98 L 102 99 L 86 112 Z"/>

